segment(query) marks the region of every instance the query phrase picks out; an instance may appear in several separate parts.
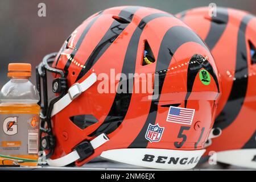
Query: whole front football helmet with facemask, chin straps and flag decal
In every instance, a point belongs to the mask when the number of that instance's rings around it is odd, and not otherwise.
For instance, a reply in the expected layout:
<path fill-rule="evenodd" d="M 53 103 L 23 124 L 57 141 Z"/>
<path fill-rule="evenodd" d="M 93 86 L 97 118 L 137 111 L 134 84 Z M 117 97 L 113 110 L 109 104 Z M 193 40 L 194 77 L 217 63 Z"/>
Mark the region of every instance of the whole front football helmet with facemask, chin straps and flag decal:
<path fill-rule="evenodd" d="M 56 93 L 49 102 L 48 72 Z M 125 6 L 90 16 L 37 67 L 48 164 L 101 156 L 193 168 L 213 125 L 218 76 L 205 43 L 174 15 Z"/>

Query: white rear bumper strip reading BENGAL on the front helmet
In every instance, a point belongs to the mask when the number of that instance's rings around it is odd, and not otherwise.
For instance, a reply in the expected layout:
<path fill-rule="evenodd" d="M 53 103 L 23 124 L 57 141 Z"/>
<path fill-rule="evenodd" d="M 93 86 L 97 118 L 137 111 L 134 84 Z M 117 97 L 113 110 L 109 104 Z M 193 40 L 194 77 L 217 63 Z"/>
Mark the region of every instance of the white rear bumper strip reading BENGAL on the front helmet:
<path fill-rule="evenodd" d="M 155 169 L 192 169 L 205 150 L 167 150 L 159 148 L 122 148 L 104 151 L 102 158 Z"/>

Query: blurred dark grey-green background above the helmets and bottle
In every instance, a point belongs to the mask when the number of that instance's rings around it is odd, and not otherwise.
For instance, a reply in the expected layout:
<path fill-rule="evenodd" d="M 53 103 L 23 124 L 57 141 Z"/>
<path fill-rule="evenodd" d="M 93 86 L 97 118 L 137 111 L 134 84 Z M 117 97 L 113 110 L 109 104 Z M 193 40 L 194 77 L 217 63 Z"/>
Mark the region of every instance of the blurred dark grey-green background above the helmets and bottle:
<path fill-rule="evenodd" d="M 41 2 L 46 4 L 46 17 L 38 16 Z M 9 63 L 31 63 L 35 68 L 44 55 L 59 51 L 69 34 L 97 11 L 139 5 L 176 14 L 212 2 L 256 14 L 255 0 L 0 0 L 0 87 L 9 80 Z M 35 84 L 35 71 L 31 80 Z"/>

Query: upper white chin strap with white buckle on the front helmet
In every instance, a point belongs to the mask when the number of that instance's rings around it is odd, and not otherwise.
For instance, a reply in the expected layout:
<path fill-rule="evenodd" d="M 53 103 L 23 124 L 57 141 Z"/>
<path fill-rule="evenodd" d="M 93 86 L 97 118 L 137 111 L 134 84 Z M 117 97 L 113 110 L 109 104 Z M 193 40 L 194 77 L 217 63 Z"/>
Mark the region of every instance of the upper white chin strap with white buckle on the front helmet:
<path fill-rule="evenodd" d="M 72 85 L 68 89 L 68 93 L 65 94 L 64 97 L 62 97 L 59 101 L 57 101 L 53 105 L 52 114 L 53 115 L 59 113 L 61 110 L 63 110 L 65 107 L 67 107 L 75 98 L 79 97 L 82 92 L 85 92 L 90 86 L 92 86 L 97 81 L 96 73 L 92 73 L 88 78 L 86 78 L 81 84 L 76 83 Z"/>

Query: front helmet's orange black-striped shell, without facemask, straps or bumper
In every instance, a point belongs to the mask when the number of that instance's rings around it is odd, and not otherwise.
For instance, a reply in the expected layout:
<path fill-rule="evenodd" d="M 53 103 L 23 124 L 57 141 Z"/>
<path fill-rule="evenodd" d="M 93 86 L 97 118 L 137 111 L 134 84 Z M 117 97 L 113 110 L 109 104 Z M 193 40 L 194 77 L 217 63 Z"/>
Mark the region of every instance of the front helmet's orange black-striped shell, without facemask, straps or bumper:
<path fill-rule="evenodd" d="M 148 47 L 155 61 L 144 65 Z M 98 77 L 86 92 L 52 117 L 57 140 L 52 159 L 68 154 L 77 144 L 101 133 L 108 135 L 108 143 L 98 147 L 89 158 L 77 161 L 78 166 L 103 151 L 118 148 L 203 149 L 221 93 L 219 74 L 204 42 L 175 16 L 135 6 L 101 11 L 73 31 L 53 67 L 65 72 L 68 87 L 84 81 L 91 73 L 104 73 L 110 89 L 99 93 L 103 77 Z M 117 75 L 114 81 L 113 69 Z M 203 84 L 202 71 L 207 74 L 207 84 Z M 159 97 L 148 99 L 152 97 L 148 92 L 117 93 L 120 73 L 134 80 L 134 85 L 143 83 L 138 75 L 152 75 L 154 93 L 158 89 Z M 130 73 L 138 75 L 129 77 Z M 133 90 L 134 85 L 127 89 Z M 192 123 L 168 122 L 170 106 L 195 109 Z M 96 122 L 82 128 L 74 122 L 81 115 L 93 116 Z M 150 125 L 164 129 L 158 141 L 146 139 Z"/>

